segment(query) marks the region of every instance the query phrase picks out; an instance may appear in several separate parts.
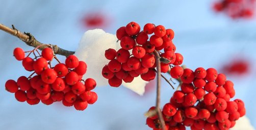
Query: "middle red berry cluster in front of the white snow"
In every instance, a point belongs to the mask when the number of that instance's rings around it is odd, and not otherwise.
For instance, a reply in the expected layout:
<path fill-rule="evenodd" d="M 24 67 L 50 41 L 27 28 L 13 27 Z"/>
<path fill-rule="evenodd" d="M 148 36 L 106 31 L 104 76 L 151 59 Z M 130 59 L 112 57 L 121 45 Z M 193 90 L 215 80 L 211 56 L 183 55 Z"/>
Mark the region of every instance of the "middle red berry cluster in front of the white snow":
<path fill-rule="evenodd" d="M 118 87 L 124 82 L 132 82 L 134 77 L 140 76 L 145 81 L 156 77 L 155 53 L 161 56 L 161 72 L 166 73 L 171 67 L 179 66 L 183 62 L 183 56 L 175 53 L 176 47 L 172 43 L 174 32 L 165 29 L 163 25 L 147 23 L 140 31 L 140 25 L 130 22 L 116 31 L 116 37 L 120 40 L 119 50 L 108 49 L 105 57 L 109 63 L 102 70 L 102 75 L 110 86 Z M 149 37 L 150 35 L 150 37 Z M 148 41 L 149 39 L 149 41 Z M 160 50 L 164 49 L 164 52 Z"/>

